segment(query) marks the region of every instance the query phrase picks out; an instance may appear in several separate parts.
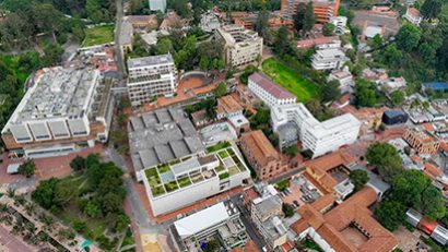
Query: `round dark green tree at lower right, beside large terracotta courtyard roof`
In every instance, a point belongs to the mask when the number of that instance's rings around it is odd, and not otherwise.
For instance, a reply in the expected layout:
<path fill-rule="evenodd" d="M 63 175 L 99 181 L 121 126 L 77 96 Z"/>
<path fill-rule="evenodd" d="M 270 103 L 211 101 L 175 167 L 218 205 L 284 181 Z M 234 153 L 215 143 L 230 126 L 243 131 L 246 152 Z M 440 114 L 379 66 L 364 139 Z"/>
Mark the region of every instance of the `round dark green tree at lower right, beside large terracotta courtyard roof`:
<path fill-rule="evenodd" d="M 375 209 L 375 216 L 385 228 L 394 231 L 405 221 L 405 208 L 399 202 L 385 201 Z"/>

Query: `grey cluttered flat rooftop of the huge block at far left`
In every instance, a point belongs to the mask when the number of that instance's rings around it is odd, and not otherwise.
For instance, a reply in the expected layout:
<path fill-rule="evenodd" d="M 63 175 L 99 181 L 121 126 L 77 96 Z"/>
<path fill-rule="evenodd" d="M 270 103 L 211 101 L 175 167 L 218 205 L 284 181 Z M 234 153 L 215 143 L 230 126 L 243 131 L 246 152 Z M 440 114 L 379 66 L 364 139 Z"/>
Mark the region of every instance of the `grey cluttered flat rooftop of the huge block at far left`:
<path fill-rule="evenodd" d="M 58 67 L 38 71 L 11 121 L 83 117 L 98 76 L 98 71 L 89 68 Z"/>

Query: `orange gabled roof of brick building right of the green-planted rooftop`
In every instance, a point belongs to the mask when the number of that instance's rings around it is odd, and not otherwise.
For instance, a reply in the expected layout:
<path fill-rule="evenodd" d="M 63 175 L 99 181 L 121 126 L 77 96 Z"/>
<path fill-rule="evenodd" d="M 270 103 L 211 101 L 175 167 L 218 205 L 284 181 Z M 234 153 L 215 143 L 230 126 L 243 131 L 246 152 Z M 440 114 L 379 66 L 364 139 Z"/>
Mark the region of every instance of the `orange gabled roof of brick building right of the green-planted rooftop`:
<path fill-rule="evenodd" d="M 250 149 L 261 166 L 266 166 L 270 159 L 281 159 L 279 152 L 261 130 L 243 134 L 240 141 Z"/>

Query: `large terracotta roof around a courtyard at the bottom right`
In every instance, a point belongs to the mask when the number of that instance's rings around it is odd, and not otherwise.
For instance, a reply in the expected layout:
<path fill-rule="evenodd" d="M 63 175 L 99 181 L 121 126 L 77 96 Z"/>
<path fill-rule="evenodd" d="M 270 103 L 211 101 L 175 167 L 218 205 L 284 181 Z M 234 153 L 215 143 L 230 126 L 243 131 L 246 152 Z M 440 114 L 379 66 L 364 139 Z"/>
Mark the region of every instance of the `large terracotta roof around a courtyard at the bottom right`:
<path fill-rule="evenodd" d="M 291 227 L 300 235 L 311 226 L 335 251 L 346 252 L 387 252 L 397 244 L 397 238 L 386 230 L 367 208 L 377 200 L 374 189 L 365 187 L 345 202 L 338 205 L 323 216 L 311 205 L 305 204 L 298 209 L 302 219 Z M 343 231 L 351 227 L 359 227 L 366 241 L 362 244 L 352 243 Z"/>

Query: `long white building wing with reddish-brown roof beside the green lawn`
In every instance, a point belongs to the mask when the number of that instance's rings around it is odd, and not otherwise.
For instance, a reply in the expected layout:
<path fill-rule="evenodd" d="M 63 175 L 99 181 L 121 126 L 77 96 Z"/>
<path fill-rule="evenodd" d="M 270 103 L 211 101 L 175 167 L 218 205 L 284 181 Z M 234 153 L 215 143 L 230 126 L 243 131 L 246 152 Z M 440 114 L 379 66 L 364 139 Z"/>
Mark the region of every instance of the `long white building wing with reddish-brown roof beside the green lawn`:
<path fill-rule="evenodd" d="M 279 86 L 263 73 L 254 73 L 248 79 L 249 89 L 269 107 L 295 104 L 297 97 Z"/>

